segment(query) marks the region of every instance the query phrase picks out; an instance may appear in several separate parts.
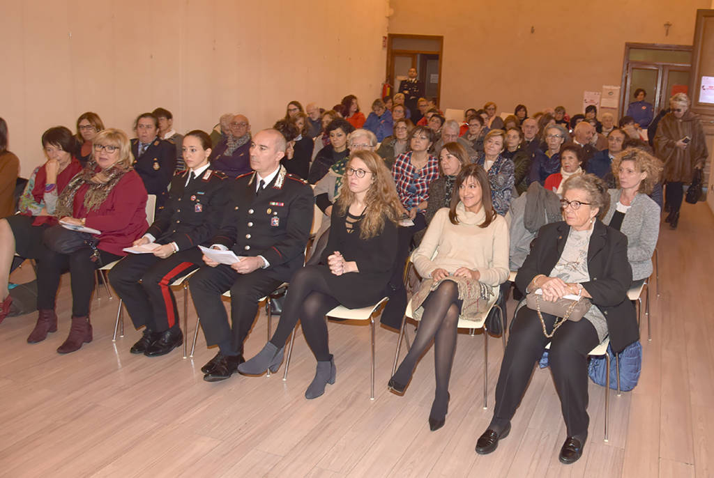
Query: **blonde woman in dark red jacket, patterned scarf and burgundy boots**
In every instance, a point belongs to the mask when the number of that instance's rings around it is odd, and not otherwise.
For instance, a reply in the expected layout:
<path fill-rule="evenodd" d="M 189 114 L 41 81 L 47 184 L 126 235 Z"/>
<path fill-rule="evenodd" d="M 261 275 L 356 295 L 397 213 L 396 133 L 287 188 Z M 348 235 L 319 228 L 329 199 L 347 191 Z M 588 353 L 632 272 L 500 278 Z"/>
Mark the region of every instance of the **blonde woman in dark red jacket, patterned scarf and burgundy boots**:
<path fill-rule="evenodd" d="M 131 168 L 131 143 L 126 133 L 105 129 L 93 141 L 94 151 L 86 168 L 75 176 L 57 200 L 54 217 L 63 223 L 100 230 L 99 242 L 84 245 L 72 253 L 58 253 L 46 247 L 37 274 L 39 317 L 27 338 L 40 342 L 47 332 L 57 330 L 54 311 L 59 278 L 69 269 L 72 289 L 72 326 L 69 337 L 57 352 L 79 350 L 91 342 L 89 303 L 94 292 L 94 271 L 126 255 L 123 249 L 141 237 L 146 223 L 146 188 Z"/>

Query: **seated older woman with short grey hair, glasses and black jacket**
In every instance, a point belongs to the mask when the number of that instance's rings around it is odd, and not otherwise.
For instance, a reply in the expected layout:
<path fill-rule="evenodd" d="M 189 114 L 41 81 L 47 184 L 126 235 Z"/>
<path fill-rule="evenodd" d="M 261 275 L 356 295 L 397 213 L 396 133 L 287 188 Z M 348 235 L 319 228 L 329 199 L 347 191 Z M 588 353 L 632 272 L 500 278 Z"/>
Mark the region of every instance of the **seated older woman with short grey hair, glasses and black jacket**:
<path fill-rule="evenodd" d="M 639 338 L 635 308 L 627 298 L 632 283 L 628 241 L 600 220 L 610 204 L 605 184 L 592 174 L 573 176 L 563 185 L 560 203 L 565 221 L 540 228 L 516 285 L 536 300 L 555 302 L 575 295 L 591 305 L 577 322 L 529 307 L 518 310 L 501 363 L 493 418 L 476 443 L 479 454 L 493 452 L 508 436 L 533 367 L 550 342 L 548 360 L 567 433 L 558 459 L 577 461 L 590 422 L 588 352 L 608 335 L 615 353 Z"/>

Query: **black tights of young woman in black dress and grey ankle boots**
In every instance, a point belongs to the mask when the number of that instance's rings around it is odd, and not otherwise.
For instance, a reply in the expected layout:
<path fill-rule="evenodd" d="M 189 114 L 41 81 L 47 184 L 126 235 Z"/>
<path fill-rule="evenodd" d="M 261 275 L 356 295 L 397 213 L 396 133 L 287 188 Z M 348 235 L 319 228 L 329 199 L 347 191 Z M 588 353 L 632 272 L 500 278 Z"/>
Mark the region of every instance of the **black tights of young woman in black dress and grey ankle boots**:
<path fill-rule="evenodd" d="M 340 302 L 331 295 L 320 268 L 324 266 L 307 265 L 293 275 L 280 322 L 270 341 L 278 349 L 284 347 L 299 319 L 305 340 L 317 361 L 328 362 L 332 359 L 332 355 L 328 344 L 325 315 L 340 305 Z"/>

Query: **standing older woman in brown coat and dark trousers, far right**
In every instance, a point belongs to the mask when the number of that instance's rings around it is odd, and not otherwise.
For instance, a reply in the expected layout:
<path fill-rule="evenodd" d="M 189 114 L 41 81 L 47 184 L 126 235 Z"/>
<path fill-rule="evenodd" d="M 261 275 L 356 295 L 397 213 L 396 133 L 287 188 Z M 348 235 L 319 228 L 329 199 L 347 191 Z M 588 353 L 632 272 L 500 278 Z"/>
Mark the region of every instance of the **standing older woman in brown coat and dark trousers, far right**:
<path fill-rule="evenodd" d="M 670 98 L 670 112 L 660 120 L 655 135 L 655 156 L 665 163 L 665 222 L 676 229 L 684 197 L 683 186 L 692 182 L 695 169 L 703 170 L 709 152 L 699 116 L 690 111 L 685 93 Z"/>

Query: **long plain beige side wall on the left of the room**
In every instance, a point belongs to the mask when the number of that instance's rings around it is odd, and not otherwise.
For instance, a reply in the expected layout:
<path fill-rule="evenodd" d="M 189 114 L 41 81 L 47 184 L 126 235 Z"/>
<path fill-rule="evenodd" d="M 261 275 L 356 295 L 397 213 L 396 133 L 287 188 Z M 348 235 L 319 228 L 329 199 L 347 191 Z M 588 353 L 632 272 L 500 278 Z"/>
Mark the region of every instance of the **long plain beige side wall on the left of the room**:
<path fill-rule="evenodd" d="M 91 9 L 90 9 L 91 7 Z M 177 131 L 221 113 L 272 126 L 297 99 L 369 111 L 386 62 L 388 0 L 0 0 L 0 116 L 22 174 L 44 161 L 50 126 L 99 113 L 129 133 L 138 113 L 174 113 Z M 133 133 L 130 133 L 132 136 Z"/>

